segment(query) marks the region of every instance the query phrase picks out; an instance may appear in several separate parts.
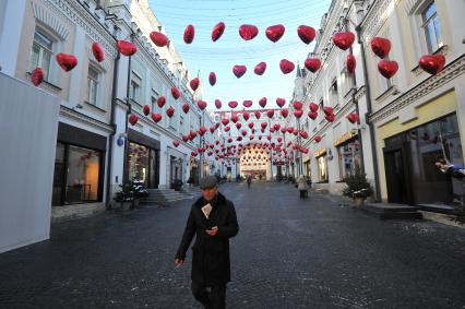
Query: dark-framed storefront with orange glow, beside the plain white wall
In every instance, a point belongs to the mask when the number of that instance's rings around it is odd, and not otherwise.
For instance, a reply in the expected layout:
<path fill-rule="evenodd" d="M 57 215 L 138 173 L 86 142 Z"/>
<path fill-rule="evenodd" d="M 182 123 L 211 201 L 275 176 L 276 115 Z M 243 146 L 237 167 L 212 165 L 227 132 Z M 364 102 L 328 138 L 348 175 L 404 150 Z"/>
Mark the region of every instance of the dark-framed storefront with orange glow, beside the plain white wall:
<path fill-rule="evenodd" d="M 103 201 L 107 138 L 60 122 L 52 205 Z"/>

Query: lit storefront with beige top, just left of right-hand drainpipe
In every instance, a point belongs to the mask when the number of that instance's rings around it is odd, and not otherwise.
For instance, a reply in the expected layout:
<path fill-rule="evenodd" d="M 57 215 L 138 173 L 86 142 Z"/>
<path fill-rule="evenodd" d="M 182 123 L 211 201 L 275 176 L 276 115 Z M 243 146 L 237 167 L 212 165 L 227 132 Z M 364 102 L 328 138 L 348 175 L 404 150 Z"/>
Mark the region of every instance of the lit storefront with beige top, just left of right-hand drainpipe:
<path fill-rule="evenodd" d="M 334 141 L 337 151 L 339 180 L 361 173 L 360 141 L 357 131 L 350 131 Z"/>

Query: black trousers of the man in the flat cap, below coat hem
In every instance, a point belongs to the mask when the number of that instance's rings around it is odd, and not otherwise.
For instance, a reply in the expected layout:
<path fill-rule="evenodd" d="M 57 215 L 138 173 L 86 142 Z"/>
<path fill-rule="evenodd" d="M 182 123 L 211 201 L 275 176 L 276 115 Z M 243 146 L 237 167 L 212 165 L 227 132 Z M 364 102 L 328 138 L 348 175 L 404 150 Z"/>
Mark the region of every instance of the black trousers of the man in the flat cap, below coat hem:
<path fill-rule="evenodd" d="M 211 292 L 206 287 L 205 284 L 193 281 L 191 288 L 194 298 L 208 309 L 226 308 L 226 284 L 212 285 Z"/>

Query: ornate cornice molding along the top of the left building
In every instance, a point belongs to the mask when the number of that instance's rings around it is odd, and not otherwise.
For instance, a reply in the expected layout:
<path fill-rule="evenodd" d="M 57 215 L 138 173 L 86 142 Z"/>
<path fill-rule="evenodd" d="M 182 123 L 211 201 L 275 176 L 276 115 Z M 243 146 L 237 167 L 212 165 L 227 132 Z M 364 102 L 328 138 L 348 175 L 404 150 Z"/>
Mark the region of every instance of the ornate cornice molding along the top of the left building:
<path fill-rule="evenodd" d="M 91 16 L 92 13 L 86 11 L 79 1 L 43 0 L 43 3 L 63 21 L 67 21 L 69 25 L 81 26 L 93 40 L 100 44 L 107 55 L 112 58 L 117 57 L 115 38 L 104 25 Z"/>

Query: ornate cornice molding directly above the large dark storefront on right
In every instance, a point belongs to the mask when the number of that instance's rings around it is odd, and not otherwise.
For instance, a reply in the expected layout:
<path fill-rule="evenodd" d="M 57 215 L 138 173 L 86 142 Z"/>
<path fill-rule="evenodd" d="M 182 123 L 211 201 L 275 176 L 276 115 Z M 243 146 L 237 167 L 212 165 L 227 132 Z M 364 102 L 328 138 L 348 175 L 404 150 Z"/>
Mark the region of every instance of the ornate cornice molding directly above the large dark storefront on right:
<path fill-rule="evenodd" d="M 393 116 L 395 112 L 401 109 L 418 102 L 424 96 L 430 94 L 431 92 L 440 88 L 452 80 L 461 76 L 465 72 L 465 55 L 462 55 L 460 58 L 455 59 L 453 62 L 449 63 L 448 67 L 439 75 L 432 75 L 419 85 L 410 88 L 404 95 L 397 97 L 385 107 L 380 110 L 371 114 L 368 120 L 371 123 L 380 122 L 381 120 Z"/>

